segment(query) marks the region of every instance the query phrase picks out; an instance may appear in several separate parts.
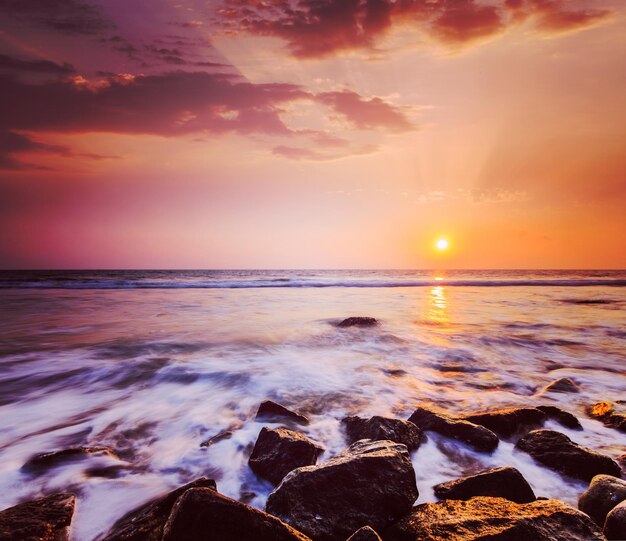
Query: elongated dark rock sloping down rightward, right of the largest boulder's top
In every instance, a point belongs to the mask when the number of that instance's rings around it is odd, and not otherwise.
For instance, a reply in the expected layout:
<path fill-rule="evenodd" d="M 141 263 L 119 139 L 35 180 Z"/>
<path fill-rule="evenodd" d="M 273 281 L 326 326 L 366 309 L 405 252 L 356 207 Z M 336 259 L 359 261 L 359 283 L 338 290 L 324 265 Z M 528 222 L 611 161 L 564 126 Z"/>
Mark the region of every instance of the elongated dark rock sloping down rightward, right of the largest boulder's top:
<path fill-rule="evenodd" d="M 477 451 L 491 452 L 498 446 L 498 436 L 491 430 L 428 408 L 417 408 L 409 417 L 409 421 L 422 430 L 432 430 L 467 443 Z"/>

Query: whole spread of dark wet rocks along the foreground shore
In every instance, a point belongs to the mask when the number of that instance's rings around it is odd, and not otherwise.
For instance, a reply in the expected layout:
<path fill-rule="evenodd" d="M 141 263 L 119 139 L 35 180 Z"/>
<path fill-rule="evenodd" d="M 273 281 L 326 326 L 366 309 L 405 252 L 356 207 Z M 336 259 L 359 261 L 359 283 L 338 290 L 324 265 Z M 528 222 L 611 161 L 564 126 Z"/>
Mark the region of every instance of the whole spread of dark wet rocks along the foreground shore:
<path fill-rule="evenodd" d="M 572 392 L 570 385 L 556 387 Z M 621 429 L 611 405 L 591 405 L 588 411 Z M 295 429 L 306 425 L 307 417 L 266 401 L 256 419 L 285 426 L 264 427 L 249 458 L 255 474 L 275 486 L 265 511 L 220 494 L 215 481 L 200 478 L 130 511 L 98 541 L 626 539 L 626 481 L 620 464 L 542 428 L 548 418 L 582 429 L 576 417 L 554 406 L 463 417 L 418 407 L 408 420 L 352 416 L 342 421 L 349 447 L 318 463 L 322 446 Z M 505 466 L 441 483 L 434 487 L 440 501 L 414 505 L 419 491 L 409 453 L 419 453 L 429 432 L 482 453 L 493 452 L 500 438 L 514 440 L 520 452 L 589 487 L 575 509 L 535 495 L 517 469 Z M 92 453 L 115 451 L 48 452 L 32 457 L 23 470 L 37 472 Z M 70 540 L 75 502 L 73 494 L 52 494 L 1 511 L 0 541 Z"/>

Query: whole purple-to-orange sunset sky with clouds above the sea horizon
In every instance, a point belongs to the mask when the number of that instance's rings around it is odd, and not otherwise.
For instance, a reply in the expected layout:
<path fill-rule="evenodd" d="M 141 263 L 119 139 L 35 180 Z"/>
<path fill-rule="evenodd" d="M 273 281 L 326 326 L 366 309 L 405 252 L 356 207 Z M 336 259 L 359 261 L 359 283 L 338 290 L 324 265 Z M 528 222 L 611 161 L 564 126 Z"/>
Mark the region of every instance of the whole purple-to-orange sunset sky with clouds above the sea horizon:
<path fill-rule="evenodd" d="M 625 0 L 3 0 L 0 267 L 623 269 L 625 95 Z"/>

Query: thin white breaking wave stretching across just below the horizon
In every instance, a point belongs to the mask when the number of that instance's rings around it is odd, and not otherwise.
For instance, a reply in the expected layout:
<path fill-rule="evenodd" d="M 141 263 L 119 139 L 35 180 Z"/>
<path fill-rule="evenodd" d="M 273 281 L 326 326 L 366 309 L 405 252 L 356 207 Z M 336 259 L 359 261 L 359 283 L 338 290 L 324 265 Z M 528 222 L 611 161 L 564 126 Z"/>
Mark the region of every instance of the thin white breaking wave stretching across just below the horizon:
<path fill-rule="evenodd" d="M 572 280 L 52 280 L 0 281 L 0 289 L 256 289 L 256 288 L 326 288 L 326 287 L 624 287 L 623 279 Z M 591 304 L 591 302 L 589 303 Z"/>

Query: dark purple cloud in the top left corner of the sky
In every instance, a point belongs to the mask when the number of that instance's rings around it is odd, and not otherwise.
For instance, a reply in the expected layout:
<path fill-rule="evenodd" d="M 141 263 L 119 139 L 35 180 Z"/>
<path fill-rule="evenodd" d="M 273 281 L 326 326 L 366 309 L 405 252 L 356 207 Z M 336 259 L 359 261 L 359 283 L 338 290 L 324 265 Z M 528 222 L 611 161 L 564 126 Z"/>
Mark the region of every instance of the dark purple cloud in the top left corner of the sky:
<path fill-rule="evenodd" d="M 2 0 L 0 16 L 63 34 L 99 34 L 113 27 L 96 5 L 82 0 Z"/>

